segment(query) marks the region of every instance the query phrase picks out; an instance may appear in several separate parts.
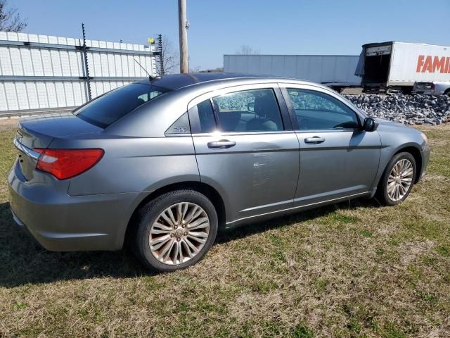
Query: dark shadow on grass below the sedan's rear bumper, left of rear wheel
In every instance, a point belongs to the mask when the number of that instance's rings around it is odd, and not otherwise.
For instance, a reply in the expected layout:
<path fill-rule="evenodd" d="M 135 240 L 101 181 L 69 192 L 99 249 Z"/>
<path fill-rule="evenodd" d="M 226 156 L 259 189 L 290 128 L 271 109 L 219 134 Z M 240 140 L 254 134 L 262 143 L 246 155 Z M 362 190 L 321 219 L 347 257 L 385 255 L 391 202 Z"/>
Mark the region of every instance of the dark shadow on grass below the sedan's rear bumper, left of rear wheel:
<path fill-rule="evenodd" d="M 152 275 L 129 250 L 52 252 L 15 224 L 9 203 L 0 204 L 0 287 Z"/>

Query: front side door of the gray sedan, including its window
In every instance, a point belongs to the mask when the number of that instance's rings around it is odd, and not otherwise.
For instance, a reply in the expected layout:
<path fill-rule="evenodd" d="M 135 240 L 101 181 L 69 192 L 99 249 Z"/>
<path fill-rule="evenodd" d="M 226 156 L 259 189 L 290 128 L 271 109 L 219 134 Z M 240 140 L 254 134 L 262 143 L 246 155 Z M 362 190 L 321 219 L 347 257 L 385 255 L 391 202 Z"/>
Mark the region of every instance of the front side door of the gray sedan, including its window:
<path fill-rule="evenodd" d="M 338 94 L 313 85 L 282 84 L 300 142 L 294 206 L 358 196 L 371 190 L 380 161 L 378 132 Z"/>

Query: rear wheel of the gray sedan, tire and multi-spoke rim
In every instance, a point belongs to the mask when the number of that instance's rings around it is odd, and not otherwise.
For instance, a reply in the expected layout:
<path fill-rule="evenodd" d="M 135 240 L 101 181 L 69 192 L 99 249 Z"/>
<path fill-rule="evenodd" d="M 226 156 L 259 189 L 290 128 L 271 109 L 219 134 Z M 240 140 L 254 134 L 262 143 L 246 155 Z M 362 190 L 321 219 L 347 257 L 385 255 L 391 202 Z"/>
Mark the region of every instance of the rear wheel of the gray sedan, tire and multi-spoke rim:
<path fill-rule="evenodd" d="M 143 206 L 133 249 L 151 270 L 184 269 L 205 256 L 216 239 L 217 228 L 217 212 L 205 195 L 176 190 Z"/>

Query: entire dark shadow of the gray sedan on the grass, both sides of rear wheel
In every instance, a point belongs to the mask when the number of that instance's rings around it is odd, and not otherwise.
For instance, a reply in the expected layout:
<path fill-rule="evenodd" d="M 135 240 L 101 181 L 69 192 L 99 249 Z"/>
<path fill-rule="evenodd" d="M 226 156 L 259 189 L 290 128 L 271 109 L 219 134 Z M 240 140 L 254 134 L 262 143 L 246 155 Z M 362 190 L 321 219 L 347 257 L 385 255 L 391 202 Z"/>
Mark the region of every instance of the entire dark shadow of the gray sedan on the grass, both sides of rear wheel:
<path fill-rule="evenodd" d="M 230 242 L 269 229 L 333 213 L 337 208 L 377 207 L 376 201 L 352 201 L 219 232 L 216 243 Z M 200 263 L 201 264 L 201 263 Z M 13 220 L 9 203 L 0 204 L 0 287 L 18 287 L 96 277 L 158 275 L 145 270 L 129 249 L 121 251 L 52 252 L 43 249 Z"/>

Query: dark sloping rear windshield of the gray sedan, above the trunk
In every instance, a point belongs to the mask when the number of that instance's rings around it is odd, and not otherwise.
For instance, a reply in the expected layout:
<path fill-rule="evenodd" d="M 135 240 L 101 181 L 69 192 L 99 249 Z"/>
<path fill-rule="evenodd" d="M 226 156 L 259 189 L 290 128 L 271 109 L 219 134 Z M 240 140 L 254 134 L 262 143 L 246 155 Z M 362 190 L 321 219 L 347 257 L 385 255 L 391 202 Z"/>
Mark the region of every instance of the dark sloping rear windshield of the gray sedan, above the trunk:
<path fill-rule="evenodd" d="M 151 84 L 131 83 L 94 99 L 89 104 L 77 109 L 74 114 L 86 122 L 105 128 L 127 115 L 134 108 L 169 91 L 170 89 Z"/>

